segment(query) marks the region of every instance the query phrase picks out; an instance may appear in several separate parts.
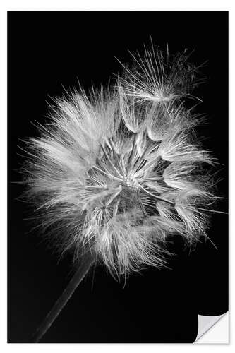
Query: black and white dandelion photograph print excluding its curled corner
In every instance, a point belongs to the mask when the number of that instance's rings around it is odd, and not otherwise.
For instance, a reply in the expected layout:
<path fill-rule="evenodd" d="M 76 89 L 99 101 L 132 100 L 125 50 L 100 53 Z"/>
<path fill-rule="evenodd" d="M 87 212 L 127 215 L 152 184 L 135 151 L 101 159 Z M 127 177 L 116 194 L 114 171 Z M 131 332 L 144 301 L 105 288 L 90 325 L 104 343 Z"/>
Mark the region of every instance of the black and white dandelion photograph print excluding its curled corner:
<path fill-rule="evenodd" d="M 7 65 L 7 342 L 196 342 L 229 311 L 229 12 L 8 11 Z"/>

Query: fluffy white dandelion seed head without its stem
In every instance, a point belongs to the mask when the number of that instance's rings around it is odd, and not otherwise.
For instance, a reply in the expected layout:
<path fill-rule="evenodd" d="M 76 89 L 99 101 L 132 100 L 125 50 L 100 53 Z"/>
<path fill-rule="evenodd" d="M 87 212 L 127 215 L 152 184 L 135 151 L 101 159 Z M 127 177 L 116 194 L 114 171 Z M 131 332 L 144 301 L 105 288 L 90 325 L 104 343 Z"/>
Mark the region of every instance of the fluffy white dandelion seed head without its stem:
<path fill-rule="evenodd" d="M 212 157 L 183 102 L 197 83 L 187 60 L 145 50 L 114 90 L 54 100 L 41 136 L 28 140 L 28 197 L 62 253 L 92 248 L 119 277 L 165 265 L 170 234 L 190 244 L 205 236 Z"/>

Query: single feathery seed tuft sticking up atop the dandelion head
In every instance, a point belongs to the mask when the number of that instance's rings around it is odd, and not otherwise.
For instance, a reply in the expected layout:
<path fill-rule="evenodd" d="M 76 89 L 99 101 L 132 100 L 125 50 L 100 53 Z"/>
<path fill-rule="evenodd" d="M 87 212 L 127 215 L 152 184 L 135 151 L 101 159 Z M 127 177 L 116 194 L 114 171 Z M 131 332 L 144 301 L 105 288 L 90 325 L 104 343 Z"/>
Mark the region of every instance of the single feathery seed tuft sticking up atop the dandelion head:
<path fill-rule="evenodd" d="M 145 54 L 131 54 L 133 69 L 125 68 L 126 75 L 120 78 L 123 92 L 136 102 L 171 102 L 182 97 L 194 97 L 192 90 L 203 82 L 199 78 L 200 66 L 188 62 L 191 53 L 185 49 L 180 54 L 169 55 L 168 46 L 160 50 L 152 43 L 145 47 Z"/>

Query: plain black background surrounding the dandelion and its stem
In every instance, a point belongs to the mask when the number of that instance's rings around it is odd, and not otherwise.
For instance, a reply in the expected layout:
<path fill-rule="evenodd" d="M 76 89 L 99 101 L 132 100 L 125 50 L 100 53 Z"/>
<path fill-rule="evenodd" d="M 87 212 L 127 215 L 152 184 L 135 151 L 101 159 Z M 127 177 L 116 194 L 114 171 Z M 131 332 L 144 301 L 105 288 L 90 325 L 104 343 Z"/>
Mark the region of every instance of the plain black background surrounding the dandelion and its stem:
<path fill-rule="evenodd" d="M 30 232 L 28 205 L 18 201 L 20 139 L 37 136 L 30 121 L 43 123 L 49 97 L 64 88 L 107 83 L 121 71 L 114 59 L 153 42 L 170 52 L 195 49 L 191 61 L 207 60 L 210 79 L 197 90 L 198 112 L 210 124 L 198 131 L 215 152 L 217 194 L 227 196 L 228 13 L 227 12 L 10 12 L 8 13 L 8 342 L 27 342 L 73 273 L 70 256 L 59 261 Z M 227 202 L 219 203 L 227 211 Z M 197 314 L 228 309 L 227 216 L 214 215 L 208 236 L 194 251 L 181 241 L 170 269 L 132 275 L 123 288 L 100 266 L 77 289 L 41 342 L 193 342 Z"/>

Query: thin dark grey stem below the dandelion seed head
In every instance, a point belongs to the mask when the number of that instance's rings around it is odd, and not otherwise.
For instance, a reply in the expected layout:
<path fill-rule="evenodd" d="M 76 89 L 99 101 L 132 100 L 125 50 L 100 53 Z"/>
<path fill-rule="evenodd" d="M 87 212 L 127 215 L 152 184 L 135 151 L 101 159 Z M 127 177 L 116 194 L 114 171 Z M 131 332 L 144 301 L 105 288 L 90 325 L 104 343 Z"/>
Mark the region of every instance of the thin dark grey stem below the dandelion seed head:
<path fill-rule="evenodd" d="M 90 270 L 90 267 L 92 266 L 94 261 L 95 261 L 95 256 L 90 251 L 83 255 L 83 258 L 81 259 L 78 270 L 76 271 L 75 275 L 73 275 L 66 289 L 64 289 L 64 292 L 61 294 L 61 297 L 59 297 L 59 299 L 52 307 L 52 310 L 49 311 L 46 318 L 44 318 L 44 321 L 42 321 L 42 324 L 39 326 L 39 328 L 37 328 L 35 333 L 30 338 L 31 343 L 39 342 L 42 336 L 45 333 L 47 333 L 47 330 L 49 330 L 52 323 L 54 323 L 54 321 L 56 320 L 61 310 L 67 304 L 68 300 L 71 298 L 73 292 L 76 290 L 78 285 L 80 285 L 80 282 L 82 282 L 83 278 Z"/>

